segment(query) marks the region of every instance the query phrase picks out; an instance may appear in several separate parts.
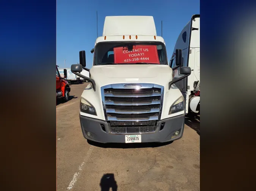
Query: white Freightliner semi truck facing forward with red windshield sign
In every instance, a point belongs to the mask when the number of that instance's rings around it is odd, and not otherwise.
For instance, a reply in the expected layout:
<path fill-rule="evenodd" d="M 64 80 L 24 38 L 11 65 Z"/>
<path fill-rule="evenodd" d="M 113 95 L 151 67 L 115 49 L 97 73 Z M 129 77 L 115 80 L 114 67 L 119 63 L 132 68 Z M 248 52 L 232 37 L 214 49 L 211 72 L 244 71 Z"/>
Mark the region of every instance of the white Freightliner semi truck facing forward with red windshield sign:
<path fill-rule="evenodd" d="M 157 36 L 151 16 L 105 17 L 102 37 L 95 42 L 93 66 L 86 68 L 85 51 L 74 74 L 90 84 L 80 100 L 83 136 L 102 143 L 170 142 L 184 131 L 184 97 L 174 83 L 165 41 Z M 182 51 L 176 50 L 177 68 Z M 78 72 L 90 71 L 90 77 Z"/>

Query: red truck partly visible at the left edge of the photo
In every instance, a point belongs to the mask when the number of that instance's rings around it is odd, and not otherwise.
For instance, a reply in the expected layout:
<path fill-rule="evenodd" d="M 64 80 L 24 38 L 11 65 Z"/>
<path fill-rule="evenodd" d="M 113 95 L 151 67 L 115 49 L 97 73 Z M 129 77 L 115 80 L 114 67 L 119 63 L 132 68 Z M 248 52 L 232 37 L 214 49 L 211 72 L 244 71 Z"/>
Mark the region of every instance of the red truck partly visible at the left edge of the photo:
<path fill-rule="evenodd" d="M 69 92 L 71 89 L 68 85 L 68 82 L 64 80 L 67 78 L 67 70 L 64 69 L 64 78 L 62 78 L 60 76 L 58 67 L 59 66 L 56 65 L 56 98 L 63 98 L 64 101 L 68 101 Z"/>

